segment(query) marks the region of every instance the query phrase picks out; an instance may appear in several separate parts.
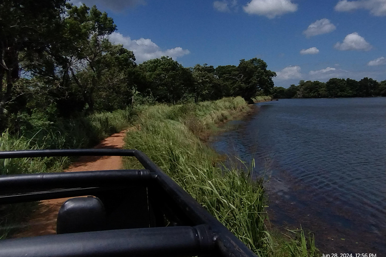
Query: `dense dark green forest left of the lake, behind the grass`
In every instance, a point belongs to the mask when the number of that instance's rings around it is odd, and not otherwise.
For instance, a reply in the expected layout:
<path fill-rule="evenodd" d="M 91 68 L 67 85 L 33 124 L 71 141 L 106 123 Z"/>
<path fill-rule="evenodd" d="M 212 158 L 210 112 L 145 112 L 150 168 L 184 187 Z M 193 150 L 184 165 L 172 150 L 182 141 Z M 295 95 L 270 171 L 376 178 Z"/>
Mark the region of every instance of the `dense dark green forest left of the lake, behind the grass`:
<path fill-rule="evenodd" d="M 238 66 L 183 67 L 169 57 L 137 64 L 114 45 L 114 21 L 95 6 L 66 0 L 0 4 L 0 129 L 24 134 L 133 103 L 181 103 L 269 94 L 276 74 L 257 58 Z"/>

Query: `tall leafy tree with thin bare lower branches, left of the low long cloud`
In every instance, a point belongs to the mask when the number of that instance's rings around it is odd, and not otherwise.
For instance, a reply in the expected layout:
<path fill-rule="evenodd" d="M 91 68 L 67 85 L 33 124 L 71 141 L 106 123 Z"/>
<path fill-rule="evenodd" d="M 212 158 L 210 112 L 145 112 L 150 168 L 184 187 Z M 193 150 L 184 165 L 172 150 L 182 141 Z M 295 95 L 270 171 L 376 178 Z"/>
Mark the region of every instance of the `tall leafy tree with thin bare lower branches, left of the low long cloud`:
<path fill-rule="evenodd" d="M 39 54 L 26 53 L 25 67 L 52 85 L 50 94 L 62 115 L 71 115 L 85 106 L 88 112 L 93 112 L 93 94 L 99 76 L 96 65 L 107 51 L 107 37 L 115 30 L 113 19 L 95 6 L 90 9 L 67 3 L 66 13 L 61 16 L 48 50 Z M 89 73 L 85 83 L 79 77 L 84 70 Z"/>

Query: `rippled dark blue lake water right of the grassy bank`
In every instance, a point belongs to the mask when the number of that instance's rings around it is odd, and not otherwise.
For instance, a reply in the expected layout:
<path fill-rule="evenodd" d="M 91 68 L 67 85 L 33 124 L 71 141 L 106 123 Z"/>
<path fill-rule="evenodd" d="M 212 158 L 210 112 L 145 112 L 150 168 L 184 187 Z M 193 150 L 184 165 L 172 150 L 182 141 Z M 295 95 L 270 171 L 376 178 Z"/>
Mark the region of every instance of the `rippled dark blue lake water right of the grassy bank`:
<path fill-rule="evenodd" d="M 211 139 L 269 178 L 271 223 L 315 232 L 322 253 L 386 256 L 386 98 L 254 105 Z"/>

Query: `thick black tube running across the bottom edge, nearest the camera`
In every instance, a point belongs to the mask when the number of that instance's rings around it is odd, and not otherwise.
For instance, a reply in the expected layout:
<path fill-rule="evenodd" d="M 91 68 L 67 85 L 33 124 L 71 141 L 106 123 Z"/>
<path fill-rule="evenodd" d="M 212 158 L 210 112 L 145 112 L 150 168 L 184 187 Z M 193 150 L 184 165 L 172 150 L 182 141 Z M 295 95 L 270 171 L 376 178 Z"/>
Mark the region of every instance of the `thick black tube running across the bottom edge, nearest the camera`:
<path fill-rule="evenodd" d="M 107 230 L 0 240 L 0 256 L 196 256 L 214 245 L 205 226 Z"/>

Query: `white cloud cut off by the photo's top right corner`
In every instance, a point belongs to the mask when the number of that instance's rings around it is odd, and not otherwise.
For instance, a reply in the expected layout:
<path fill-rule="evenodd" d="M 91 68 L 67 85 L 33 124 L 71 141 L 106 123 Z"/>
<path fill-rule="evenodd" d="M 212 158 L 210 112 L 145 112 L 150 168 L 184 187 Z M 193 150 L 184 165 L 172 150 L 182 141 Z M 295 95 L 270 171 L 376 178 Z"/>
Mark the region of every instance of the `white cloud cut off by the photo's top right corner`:
<path fill-rule="evenodd" d="M 341 0 L 335 6 L 337 12 L 352 12 L 358 9 L 369 10 L 374 16 L 386 16 L 386 0 Z"/>

